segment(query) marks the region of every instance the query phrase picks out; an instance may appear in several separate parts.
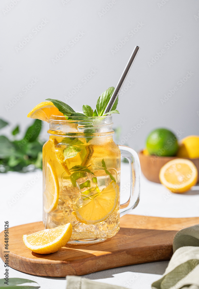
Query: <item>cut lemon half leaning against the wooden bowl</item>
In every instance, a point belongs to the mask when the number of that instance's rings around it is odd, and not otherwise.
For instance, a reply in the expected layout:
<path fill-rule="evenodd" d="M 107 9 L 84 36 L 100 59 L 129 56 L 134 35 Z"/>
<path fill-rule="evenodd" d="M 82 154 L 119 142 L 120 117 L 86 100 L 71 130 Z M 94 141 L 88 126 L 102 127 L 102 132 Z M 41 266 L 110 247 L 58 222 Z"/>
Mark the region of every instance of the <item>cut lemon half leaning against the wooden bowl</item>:
<path fill-rule="evenodd" d="M 170 191 L 183 193 L 197 183 L 198 171 L 190 160 L 177 158 L 160 169 L 159 180 Z"/>

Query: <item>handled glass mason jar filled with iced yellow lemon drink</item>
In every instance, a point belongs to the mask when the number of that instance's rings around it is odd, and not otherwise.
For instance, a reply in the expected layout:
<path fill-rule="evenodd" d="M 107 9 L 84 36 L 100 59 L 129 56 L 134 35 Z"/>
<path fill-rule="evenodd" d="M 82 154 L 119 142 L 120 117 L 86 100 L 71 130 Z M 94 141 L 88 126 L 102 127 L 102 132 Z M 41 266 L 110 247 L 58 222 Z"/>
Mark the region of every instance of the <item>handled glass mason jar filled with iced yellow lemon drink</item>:
<path fill-rule="evenodd" d="M 45 228 L 71 223 L 69 243 L 95 243 L 119 231 L 120 216 L 139 202 L 137 153 L 112 139 L 112 116 L 51 116 L 43 146 Z M 120 206 L 121 156 L 129 161 L 131 194 Z"/>

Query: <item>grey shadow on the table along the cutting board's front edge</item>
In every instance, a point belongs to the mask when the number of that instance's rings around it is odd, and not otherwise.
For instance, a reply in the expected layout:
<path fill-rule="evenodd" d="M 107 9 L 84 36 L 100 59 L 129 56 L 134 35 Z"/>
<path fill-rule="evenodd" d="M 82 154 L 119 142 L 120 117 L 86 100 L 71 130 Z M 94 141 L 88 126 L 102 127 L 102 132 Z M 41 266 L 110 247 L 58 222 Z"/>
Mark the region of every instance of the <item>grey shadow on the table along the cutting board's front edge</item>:
<path fill-rule="evenodd" d="M 108 270 L 103 270 L 87 275 L 83 275 L 81 277 L 89 278 L 89 279 L 106 279 L 113 278 L 113 275 L 124 273 L 124 272 L 132 272 L 132 273 L 146 273 L 146 274 L 157 274 L 163 275 L 166 267 L 168 266 L 169 261 L 160 261 L 160 262 L 151 262 L 151 263 L 143 263 L 136 265 L 129 265 L 123 267 L 112 268 Z"/>

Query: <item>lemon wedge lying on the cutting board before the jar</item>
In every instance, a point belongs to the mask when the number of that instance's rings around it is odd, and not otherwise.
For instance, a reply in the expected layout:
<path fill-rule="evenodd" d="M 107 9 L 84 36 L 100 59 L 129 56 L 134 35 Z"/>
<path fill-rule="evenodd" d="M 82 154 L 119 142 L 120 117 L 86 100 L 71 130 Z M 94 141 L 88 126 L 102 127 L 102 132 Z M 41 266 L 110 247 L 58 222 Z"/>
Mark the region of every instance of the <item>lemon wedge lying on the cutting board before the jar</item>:
<path fill-rule="evenodd" d="M 68 223 L 52 229 L 45 229 L 30 235 L 23 235 L 25 246 L 39 254 L 57 252 L 63 247 L 72 235 L 72 225 Z"/>

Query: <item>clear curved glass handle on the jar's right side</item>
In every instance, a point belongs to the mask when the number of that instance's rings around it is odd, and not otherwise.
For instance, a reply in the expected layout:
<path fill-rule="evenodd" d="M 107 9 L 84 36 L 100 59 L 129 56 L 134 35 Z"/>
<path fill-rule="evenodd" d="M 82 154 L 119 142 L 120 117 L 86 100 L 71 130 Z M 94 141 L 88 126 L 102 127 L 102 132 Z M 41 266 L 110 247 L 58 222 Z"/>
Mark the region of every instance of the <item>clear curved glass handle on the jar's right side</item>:
<path fill-rule="evenodd" d="M 130 197 L 129 200 L 120 205 L 120 217 L 131 212 L 134 208 L 137 207 L 140 200 L 140 160 L 136 151 L 130 147 L 119 145 L 121 151 L 121 158 L 127 158 L 130 166 Z"/>

